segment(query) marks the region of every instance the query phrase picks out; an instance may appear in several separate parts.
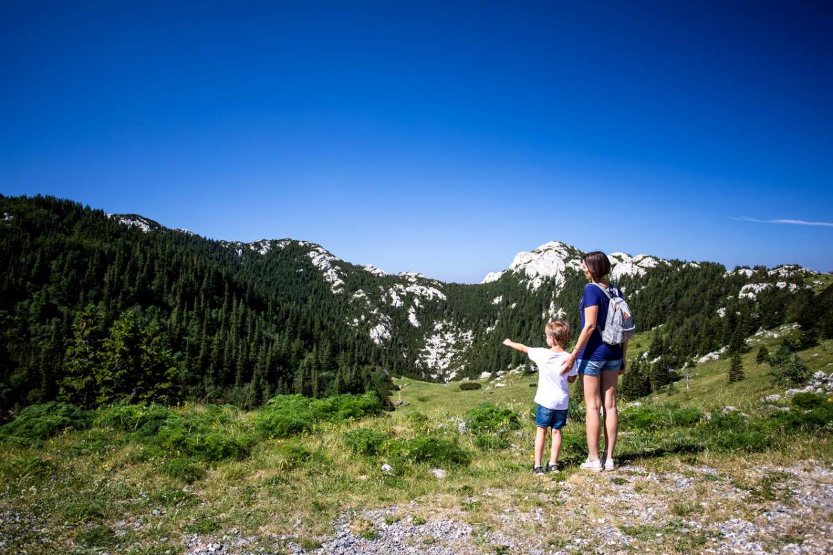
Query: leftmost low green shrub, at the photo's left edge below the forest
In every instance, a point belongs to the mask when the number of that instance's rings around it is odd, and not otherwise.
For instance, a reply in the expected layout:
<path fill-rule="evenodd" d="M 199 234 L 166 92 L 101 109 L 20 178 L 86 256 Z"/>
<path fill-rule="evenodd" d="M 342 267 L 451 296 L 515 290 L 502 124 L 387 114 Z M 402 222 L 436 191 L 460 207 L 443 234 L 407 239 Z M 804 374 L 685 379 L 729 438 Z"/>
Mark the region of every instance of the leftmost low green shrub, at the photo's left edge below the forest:
<path fill-rule="evenodd" d="M 64 429 L 86 429 L 92 424 L 92 413 L 72 404 L 50 401 L 32 404 L 17 418 L 0 426 L 0 436 L 42 440 Z"/>

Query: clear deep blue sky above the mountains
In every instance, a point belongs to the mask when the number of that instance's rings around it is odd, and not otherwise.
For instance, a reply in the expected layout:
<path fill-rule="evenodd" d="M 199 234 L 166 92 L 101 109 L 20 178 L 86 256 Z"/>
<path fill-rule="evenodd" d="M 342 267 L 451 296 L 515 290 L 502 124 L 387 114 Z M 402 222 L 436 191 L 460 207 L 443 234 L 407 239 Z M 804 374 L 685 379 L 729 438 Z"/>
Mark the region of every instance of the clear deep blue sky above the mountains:
<path fill-rule="evenodd" d="M 0 7 L 3 194 L 463 282 L 548 240 L 833 270 L 831 7 L 82 3 Z"/>

